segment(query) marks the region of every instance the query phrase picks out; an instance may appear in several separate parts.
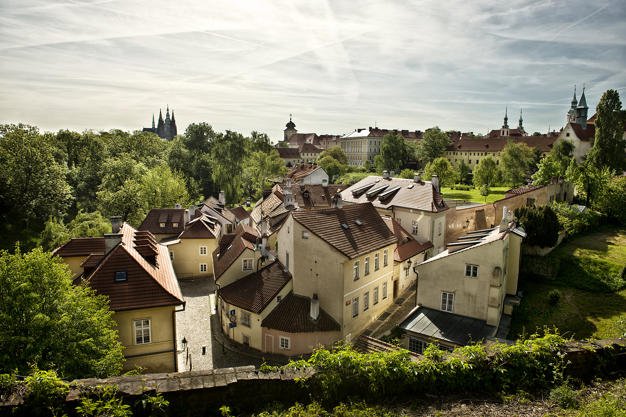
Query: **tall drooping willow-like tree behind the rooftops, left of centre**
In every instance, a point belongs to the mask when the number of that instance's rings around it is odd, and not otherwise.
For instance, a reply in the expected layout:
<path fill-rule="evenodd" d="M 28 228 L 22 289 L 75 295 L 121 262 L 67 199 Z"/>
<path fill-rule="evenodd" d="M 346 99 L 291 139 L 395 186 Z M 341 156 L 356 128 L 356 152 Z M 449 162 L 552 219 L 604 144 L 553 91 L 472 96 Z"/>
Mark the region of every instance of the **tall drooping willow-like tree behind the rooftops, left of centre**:
<path fill-rule="evenodd" d="M 244 135 L 230 130 L 215 141 L 213 148 L 213 182 L 223 190 L 227 204 L 237 204 L 242 199 L 241 175 L 247 159 L 248 140 Z"/>

